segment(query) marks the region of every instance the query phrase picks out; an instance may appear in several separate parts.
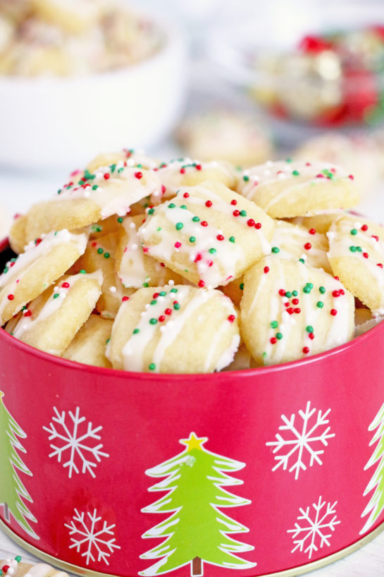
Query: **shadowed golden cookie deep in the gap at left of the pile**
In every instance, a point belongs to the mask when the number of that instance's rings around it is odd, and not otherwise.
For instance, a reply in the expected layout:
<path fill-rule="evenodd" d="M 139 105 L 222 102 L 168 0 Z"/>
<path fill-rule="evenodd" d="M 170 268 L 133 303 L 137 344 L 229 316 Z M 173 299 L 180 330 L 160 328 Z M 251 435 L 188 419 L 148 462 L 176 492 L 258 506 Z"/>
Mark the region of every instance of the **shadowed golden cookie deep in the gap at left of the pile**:
<path fill-rule="evenodd" d="M 84 255 L 76 263 L 78 270 L 94 272 L 100 269 L 102 271 L 103 284 L 96 309 L 102 317 L 107 319 L 114 319 L 123 299 L 128 298 L 134 292 L 132 288 L 125 288 L 116 274 L 117 243 L 118 233 L 109 233 L 88 241 Z"/>

